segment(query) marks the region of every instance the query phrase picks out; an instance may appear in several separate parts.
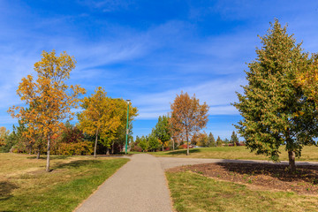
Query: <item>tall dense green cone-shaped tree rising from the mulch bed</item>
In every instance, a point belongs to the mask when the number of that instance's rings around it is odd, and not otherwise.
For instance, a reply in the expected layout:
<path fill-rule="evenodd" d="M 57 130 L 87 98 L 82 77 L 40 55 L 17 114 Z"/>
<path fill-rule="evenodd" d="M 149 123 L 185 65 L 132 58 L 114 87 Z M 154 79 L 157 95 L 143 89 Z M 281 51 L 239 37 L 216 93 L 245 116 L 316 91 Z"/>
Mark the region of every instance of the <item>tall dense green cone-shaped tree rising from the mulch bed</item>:
<path fill-rule="evenodd" d="M 305 145 L 315 144 L 318 132 L 314 101 L 295 83 L 299 72 L 309 69 L 308 54 L 278 20 L 261 43 L 257 58 L 248 64 L 244 94 L 237 93 L 239 102 L 234 103 L 243 117 L 236 127 L 247 148 L 273 161 L 279 161 L 284 145 L 290 170 L 295 171 L 295 156 Z"/>

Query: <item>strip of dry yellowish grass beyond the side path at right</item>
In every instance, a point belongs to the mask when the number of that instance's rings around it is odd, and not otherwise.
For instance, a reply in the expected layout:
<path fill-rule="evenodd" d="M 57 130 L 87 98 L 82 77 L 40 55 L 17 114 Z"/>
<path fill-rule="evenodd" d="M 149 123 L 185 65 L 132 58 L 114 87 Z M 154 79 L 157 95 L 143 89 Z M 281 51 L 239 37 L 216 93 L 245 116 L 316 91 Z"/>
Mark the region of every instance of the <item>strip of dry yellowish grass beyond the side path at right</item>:
<path fill-rule="evenodd" d="M 284 147 L 280 149 L 281 161 L 288 161 L 288 153 Z M 244 146 L 240 147 L 218 147 L 218 148 L 191 148 L 190 155 L 186 155 L 186 149 L 166 152 L 149 152 L 155 156 L 172 156 L 172 157 L 187 157 L 187 158 L 216 158 L 216 159 L 240 159 L 240 160 L 268 160 L 265 155 L 255 155 Z M 304 147 L 301 152 L 301 157 L 296 161 L 318 161 L 318 148 L 315 146 Z"/>

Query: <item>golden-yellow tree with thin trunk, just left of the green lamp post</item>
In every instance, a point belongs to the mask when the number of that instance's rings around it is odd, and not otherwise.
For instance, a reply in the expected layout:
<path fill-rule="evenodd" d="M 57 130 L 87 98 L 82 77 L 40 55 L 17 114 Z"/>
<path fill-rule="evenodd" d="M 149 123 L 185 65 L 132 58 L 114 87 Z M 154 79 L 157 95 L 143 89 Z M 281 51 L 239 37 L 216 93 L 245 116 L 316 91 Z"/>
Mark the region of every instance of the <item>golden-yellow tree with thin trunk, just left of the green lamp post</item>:
<path fill-rule="evenodd" d="M 115 139 L 115 132 L 121 125 L 121 116 L 117 113 L 117 102 L 106 96 L 102 87 L 95 89 L 95 94 L 85 97 L 81 102 L 84 109 L 78 114 L 79 129 L 88 135 L 95 136 L 94 156 L 98 137 L 105 146 Z"/>

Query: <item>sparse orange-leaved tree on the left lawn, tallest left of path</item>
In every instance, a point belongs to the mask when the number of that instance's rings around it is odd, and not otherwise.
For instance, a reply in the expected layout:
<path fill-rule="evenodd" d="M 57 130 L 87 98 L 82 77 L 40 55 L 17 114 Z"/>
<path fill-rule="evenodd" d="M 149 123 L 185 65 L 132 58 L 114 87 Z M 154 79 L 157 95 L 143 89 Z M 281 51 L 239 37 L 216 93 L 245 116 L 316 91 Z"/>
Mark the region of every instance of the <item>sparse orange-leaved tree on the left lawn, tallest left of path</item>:
<path fill-rule="evenodd" d="M 65 119 L 72 120 L 72 108 L 78 107 L 78 96 L 85 94 L 84 88 L 68 86 L 66 79 L 75 68 L 76 61 L 63 52 L 56 55 L 55 50 L 42 52 L 41 61 L 34 64 L 37 77 L 27 75 L 19 83 L 17 94 L 26 107 L 12 106 L 8 111 L 27 124 L 26 136 L 42 135 L 47 140 L 47 164 L 49 171 L 50 140 L 53 133 L 63 125 Z"/>

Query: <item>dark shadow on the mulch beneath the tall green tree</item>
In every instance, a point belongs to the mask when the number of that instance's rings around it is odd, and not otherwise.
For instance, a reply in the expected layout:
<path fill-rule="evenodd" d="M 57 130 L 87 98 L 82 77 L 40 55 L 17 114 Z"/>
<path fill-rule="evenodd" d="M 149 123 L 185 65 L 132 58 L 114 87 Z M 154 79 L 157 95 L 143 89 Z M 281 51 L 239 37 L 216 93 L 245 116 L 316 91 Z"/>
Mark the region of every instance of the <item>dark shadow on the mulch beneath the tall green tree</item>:
<path fill-rule="evenodd" d="M 297 165 L 296 173 L 288 171 L 287 164 L 269 163 L 217 163 L 225 170 L 236 172 L 246 176 L 270 176 L 281 181 L 305 181 L 318 185 L 318 166 Z"/>

